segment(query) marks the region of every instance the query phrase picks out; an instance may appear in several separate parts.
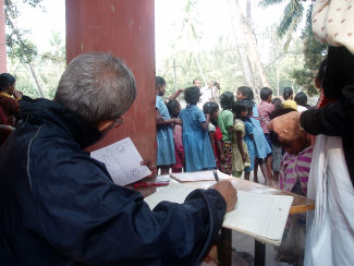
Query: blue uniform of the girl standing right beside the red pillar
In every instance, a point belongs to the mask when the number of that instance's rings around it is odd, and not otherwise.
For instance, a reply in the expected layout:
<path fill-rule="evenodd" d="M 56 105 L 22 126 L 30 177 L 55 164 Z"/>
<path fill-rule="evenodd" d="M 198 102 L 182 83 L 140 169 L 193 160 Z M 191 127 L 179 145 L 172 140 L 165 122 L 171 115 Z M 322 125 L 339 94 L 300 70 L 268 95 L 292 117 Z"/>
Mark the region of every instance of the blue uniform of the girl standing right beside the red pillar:
<path fill-rule="evenodd" d="M 160 96 L 156 96 L 156 109 L 163 119 L 171 119 L 169 110 Z M 172 128 L 162 125 L 157 129 L 157 166 L 175 164 Z"/>

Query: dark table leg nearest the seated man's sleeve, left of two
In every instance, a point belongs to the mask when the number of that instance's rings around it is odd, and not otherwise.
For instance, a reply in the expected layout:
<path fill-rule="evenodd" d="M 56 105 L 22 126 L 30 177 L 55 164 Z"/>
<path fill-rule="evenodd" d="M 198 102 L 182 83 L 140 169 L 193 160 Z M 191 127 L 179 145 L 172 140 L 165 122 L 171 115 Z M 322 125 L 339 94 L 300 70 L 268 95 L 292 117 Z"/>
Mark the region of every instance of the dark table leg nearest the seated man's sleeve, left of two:
<path fill-rule="evenodd" d="M 232 230 L 221 228 L 221 238 L 218 243 L 218 262 L 220 266 L 231 266 Z"/>

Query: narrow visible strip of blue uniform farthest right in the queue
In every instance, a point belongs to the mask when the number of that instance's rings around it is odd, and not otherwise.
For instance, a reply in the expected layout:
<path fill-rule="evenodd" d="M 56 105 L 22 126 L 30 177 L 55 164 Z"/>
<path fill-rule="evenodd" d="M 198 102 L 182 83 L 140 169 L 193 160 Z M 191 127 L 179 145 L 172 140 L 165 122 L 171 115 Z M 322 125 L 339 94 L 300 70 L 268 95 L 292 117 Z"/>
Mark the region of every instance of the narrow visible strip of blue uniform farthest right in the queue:
<path fill-rule="evenodd" d="M 258 110 L 256 105 L 253 106 L 253 116 L 258 118 Z M 257 119 L 251 118 L 253 124 L 253 136 L 255 140 L 255 156 L 256 158 L 264 159 L 267 155 L 271 154 L 271 148 L 265 137 L 265 133 L 260 128 L 260 123 Z"/>

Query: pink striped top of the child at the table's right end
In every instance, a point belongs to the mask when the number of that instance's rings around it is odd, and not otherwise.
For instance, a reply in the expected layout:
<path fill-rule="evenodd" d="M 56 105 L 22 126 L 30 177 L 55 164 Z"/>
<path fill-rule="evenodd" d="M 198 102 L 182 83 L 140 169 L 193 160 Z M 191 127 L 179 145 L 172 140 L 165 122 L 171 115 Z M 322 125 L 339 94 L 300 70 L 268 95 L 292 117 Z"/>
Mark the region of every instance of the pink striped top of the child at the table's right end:
<path fill-rule="evenodd" d="M 308 173 L 313 157 L 313 147 L 305 148 L 298 155 L 285 153 L 280 166 L 279 186 L 291 192 L 297 179 L 304 194 L 307 194 Z"/>

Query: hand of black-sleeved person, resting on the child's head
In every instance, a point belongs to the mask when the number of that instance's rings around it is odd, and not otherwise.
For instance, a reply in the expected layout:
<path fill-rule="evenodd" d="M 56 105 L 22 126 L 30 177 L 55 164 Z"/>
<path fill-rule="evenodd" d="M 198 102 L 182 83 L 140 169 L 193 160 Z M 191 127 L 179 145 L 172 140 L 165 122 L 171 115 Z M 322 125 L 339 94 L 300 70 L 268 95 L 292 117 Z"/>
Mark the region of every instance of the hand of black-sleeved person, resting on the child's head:
<path fill-rule="evenodd" d="M 268 124 L 268 129 L 273 131 L 280 142 L 293 142 L 302 135 L 300 128 L 300 112 L 293 111 L 274 118 Z"/>

